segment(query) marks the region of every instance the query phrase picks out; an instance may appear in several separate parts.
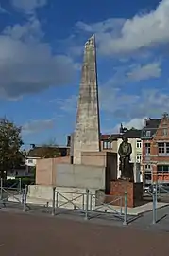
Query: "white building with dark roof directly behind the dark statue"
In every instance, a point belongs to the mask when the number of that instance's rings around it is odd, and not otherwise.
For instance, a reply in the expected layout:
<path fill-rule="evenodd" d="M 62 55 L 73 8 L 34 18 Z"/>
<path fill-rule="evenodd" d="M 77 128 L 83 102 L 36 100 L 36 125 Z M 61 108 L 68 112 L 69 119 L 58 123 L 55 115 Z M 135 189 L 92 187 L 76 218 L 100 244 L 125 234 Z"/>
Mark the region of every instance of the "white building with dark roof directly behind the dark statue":
<path fill-rule="evenodd" d="M 128 130 L 125 134 L 128 138 L 128 142 L 132 146 L 131 163 L 133 163 L 134 181 L 142 182 L 141 174 L 141 162 L 142 162 L 142 140 L 141 140 L 141 130 Z M 117 138 L 117 151 L 120 144 L 122 143 L 122 138 Z M 120 160 L 117 159 L 117 178 L 121 176 L 121 171 L 119 170 Z"/>

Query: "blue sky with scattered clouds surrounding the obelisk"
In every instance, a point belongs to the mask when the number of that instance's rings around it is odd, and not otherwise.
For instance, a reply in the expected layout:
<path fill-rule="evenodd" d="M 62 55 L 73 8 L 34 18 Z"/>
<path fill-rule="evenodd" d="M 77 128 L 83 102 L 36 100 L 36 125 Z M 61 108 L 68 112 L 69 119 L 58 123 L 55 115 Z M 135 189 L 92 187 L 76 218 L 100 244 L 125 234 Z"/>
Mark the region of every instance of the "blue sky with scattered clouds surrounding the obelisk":
<path fill-rule="evenodd" d="M 169 111 L 169 0 L 0 0 L 0 116 L 25 146 L 64 144 L 83 46 L 96 36 L 101 132 Z"/>

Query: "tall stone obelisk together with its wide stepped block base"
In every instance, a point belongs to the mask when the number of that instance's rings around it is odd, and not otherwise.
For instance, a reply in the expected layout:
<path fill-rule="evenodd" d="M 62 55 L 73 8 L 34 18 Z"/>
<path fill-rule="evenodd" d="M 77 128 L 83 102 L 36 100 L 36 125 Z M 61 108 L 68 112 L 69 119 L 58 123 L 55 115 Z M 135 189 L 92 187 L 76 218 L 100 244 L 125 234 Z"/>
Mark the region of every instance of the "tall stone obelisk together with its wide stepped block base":
<path fill-rule="evenodd" d="M 53 186 L 57 191 L 67 192 L 66 196 L 69 195 L 70 198 L 73 196 L 71 192 L 84 193 L 86 189 L 96 196 L 100 191 L 110 192 L 110 180 L 117 177 L 117 153 L 103 152 L 100 149 L 94 36 L 84 47 L 76 128 L 71 137 L 71 144 L 73 147 L 69 157 L 37 160 L 36 185 L 29 186 L 29 197 L 45 198 L 50 201 Z"/>

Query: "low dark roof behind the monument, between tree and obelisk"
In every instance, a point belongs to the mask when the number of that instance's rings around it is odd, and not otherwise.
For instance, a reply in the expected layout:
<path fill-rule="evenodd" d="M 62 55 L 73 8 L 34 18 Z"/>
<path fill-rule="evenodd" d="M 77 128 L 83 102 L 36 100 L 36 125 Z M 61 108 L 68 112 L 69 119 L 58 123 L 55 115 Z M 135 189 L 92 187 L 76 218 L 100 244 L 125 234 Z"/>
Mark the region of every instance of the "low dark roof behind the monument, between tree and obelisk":
<path fill-rule="evenodd" d="M 59 147 L 34 147 L 30 149 L 27 157 L 40 157 L 40 158 L 52 158 L 56 156 L 65 156 L 67 154 L 67 147 L 59 148 Z"/>

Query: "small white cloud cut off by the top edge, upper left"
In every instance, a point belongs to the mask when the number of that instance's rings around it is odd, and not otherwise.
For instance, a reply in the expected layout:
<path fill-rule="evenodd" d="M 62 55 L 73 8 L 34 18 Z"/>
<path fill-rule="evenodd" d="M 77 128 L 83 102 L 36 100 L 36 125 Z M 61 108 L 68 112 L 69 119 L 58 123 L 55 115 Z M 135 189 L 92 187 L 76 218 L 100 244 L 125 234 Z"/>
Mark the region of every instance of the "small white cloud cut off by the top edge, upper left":
<path fill-rule="evenodd" d="M 13 7 L 26 13 L 31 13 L 34 9 L 42 8 L 46 4 L 47 0 L 12 0 Z"/>

